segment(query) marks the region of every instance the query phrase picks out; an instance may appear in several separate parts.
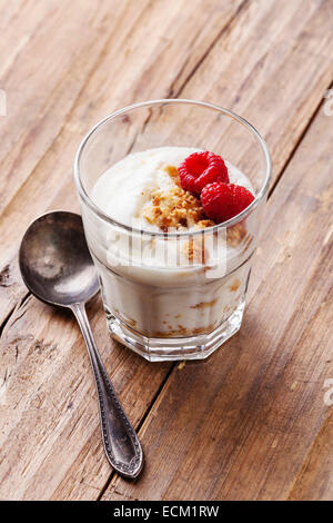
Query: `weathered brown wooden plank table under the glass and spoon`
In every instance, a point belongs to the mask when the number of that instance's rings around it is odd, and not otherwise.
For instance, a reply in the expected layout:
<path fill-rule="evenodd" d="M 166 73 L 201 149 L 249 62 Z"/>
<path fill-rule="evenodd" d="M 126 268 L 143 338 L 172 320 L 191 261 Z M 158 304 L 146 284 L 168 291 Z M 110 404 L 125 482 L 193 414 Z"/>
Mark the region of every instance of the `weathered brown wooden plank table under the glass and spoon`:
<path fill-rule="evenodd" d="M 0 499 L 332 500 L 332 0 L 1 0 L 0 23 Z M 130 483 L 79 328 L 28 294 L 17 253 L 37 216 L 78 210 L 90 127 L 168 97 L 250 120 L 273 180 L 242 329 L 208 361 L 148 363 L 89 307 L 145 453 Z"/>

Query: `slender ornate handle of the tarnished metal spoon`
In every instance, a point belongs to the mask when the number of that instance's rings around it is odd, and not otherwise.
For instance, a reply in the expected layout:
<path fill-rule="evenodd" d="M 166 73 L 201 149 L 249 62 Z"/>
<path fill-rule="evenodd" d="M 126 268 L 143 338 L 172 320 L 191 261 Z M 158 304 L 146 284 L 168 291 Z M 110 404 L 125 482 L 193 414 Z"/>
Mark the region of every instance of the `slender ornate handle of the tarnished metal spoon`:
<path fill-rule="evenodd" d="M 84 304 L 72 305 L 71 309 L 80 325 L 93 369 L 107 457 L 120 475 L 134 478 L 139 475 L 143 462 L 140 442 L 105 372 L 92 336 Z"/>

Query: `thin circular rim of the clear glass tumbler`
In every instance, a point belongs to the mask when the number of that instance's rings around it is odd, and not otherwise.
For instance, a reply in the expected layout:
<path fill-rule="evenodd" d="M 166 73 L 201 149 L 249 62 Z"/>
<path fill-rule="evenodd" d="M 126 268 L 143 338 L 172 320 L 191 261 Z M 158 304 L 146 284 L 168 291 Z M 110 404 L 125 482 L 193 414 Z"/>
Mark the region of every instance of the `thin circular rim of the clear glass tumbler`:
<path fill-rule="evenodd" d="M 245 120 L 243 117 L 236 115 L 235 112 L 231 111 L 230 109 L 225 109 L 223 107 L 216 106 L 214 103 L 210 103 L 208 101 L 190 100 L 190 99 L 185 99 L 185 98 L 161 98 L 161 99 L 157 99 L 157 100 L 145 100 L 145 101 L 141 101 L 141 102 L 137 102 L 137 103 L 132 103 L 130 106 L 123 107 L 122 109 L 113 111 L 110 115 L 108 115 L 107 117 L 104 117 L 102 120 L 100 120 L 98 124 L 95 124 L 95 126 L 93 126 L 90 129 L 90 131 L 84 136 L 84 138 L 82 139 L 81 144 L 79 145 L 79 148 L 78 148 L 77 154 L 75 154 L 75 158 L 74 158 L 74 182 L 75 182 L 75 186 L 77 186 L 77 189 L 78 189 L 78 193 L 79 193 L 80 197 L 88 205 L 88 207 L 93 213 L 95 213 L 101 219 L 103 219 L 104 221 L 108 221 L 109 224 L 111 224 L 113 226 L 125 229 L 130 233 L 137 233 L 137 234 L 140 234 L 140 235 L 147 234 L 147 235 L 150 235 L 150 236 L 157 236 L 157 237 L 161 237 L 161 238 L 165 238 L 165 237 L 171 237 L 172 238 L 172 237 L 180 237 L 180 236 L 182 236 L 182 237 L 191 236 L 192 237 L 192 236 L 196 236 L 196 235 L 202 235 L 202 230 L 179 231 L 179 233 L 162 233 L 161 231 L 160 233 L 160 231 L 154 231 L 154 230 L 148 230 L 148 229 L 140 229 L 140 228 L 137 228 L 137 227 L 131 227 L 131 226 L 128 226 L 125 224 L 122 224 L 121 221 L 117 221 L 115 219 L 108 216 L 98 205 L 95 205 L 92 201 L 92 199 L 90 198 L 90 196 L 85 191 L 85 189 L 83 187 L 83 184 L 82 184 L 82 180 L 81 180 L 81 175 L 80 175 L 81 156 L 84 152 L 84 148 L 85 148 L 85 145 L 88 144 L 89 139 L 94 135 L 94 132 L 97 130 L 100 129 L 100 127 L 102 127 L 107 121 L 112 120 L 112 119 L 117 118 L 120 115 L 124 115 L 125 112 L 129 112 L 133 109 L 139 109 L 141 107 L 147 107 L 147 106 L 169 105 L 169 103 L 185 103 L 185 105 L 194 105 L 194 106 L 206 107 L 209 109 L 213 109 L 215 111 L 219 111 L 223 115 L 226 115 L 226 116 L 233 118 L 234 120 L 238 120 L 239 124 L 246 127 L 255 136 L 255 138 L 258 139 L 258 141 L 261 146 L 262 152 L 263 152 L 265 164 L 266 164 L 265 179 L 264 179 L 264 182 L 263 182 L 261 189 L 255 195 L 254 200 L 249 205 L 249 207 L 246 207 L 244 210 L 242 210 L 242 213 L 234 216 L 233 218 L 230 218 L 226 221 L 223 221 L 222 224 L 218 224 L 218 225 L 213 225 L 211 227 L 206 227 L 204 229 L 204 231 L 205 233 L 215 233 L 219 229 L 222 229 L 222 228 L 225 228 L 225 227 L 231 227 L 231 226 L 238 224 L 239 221 L 244 219 L 244 217 L 248 216 L 258 206 L 258 204 L 262 200 L 262 198 L 265 196 L 265 194 L 269 189 L 270 180 L 271 180 L 271 174 L 272 174 L 271 156 L 270 156 L 270 151 L 269 151 L 269 148 L 266 146 L 266 142 L 264 141 L 262 136 L 259 134 L 259 131 L 251 124 L 249 124 L 248 120 Z"/>

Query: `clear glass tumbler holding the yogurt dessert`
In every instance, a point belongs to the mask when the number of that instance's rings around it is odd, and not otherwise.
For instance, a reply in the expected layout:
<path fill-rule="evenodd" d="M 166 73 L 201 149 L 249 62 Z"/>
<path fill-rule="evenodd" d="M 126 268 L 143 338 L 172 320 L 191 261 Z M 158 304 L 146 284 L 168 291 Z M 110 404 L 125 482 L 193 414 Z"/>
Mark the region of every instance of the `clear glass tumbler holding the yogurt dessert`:
<path fill-rule="evenodd" d="M 112 219 L 93 200 L 94 184 L 127 155 L 160 147 L 221 155 L 246 176 L 254 200 L 221 225 L 191 231 L 147 230 Z M 270 176 L 259 132 L 212 103 L 144 101 L 90 130 L 75 156 L 74 181 L 115 339 L 149 361 L 200 359 L 240 329 Z"/>

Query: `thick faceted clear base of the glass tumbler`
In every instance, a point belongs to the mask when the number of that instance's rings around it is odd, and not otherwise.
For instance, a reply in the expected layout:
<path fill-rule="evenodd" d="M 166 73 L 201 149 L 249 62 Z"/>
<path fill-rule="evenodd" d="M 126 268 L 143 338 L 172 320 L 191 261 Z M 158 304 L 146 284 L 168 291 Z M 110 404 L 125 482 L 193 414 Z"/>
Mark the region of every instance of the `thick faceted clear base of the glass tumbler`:
<path fill-rule="evenodd" d="M 105 310 L 109 330 L 118 342 L 150 362 L 204 359 L 241 327 L 244 302 L 225 322 L 209 334 L 176 338 L 150 338 L 135 332 Z"/>

